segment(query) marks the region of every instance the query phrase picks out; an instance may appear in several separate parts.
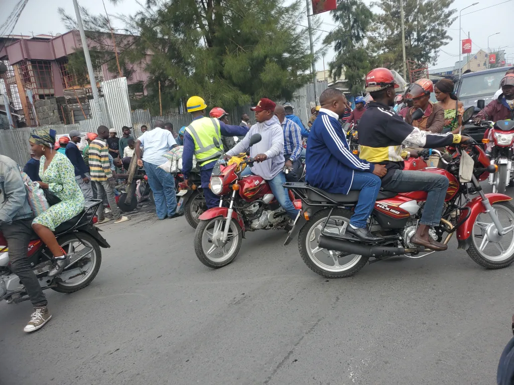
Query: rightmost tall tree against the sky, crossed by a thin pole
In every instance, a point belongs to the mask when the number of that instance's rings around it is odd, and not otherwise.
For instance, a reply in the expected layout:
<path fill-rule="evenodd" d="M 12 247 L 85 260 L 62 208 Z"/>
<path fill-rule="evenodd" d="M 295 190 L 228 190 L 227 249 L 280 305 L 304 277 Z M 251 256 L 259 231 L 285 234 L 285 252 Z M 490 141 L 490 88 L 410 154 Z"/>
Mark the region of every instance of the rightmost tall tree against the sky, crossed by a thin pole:
<path fill-rule="evenodd" d="M 453 15 L 457 10 L 449 9 L 454 0 L 402 1 L 406 58 L 435 64 L 438 49 L 451 41 L 447 26 L 456 20 Z M 377 55 L 374 64 L 400 71 L 403 67 L 400 1 L 380 0 L 372 6 L 381 11 L 374 16 L 369 38 L 369 48 Z"/>

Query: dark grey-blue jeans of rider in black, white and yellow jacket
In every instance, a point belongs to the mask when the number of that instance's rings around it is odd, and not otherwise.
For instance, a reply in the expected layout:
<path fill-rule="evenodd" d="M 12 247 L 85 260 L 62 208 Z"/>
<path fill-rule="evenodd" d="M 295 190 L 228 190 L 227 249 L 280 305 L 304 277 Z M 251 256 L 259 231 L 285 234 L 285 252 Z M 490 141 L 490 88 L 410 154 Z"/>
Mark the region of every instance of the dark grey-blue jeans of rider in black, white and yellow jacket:
<path fill-rule="evenodd" d="M 438 226 L 443 213 L 448 178 L 431 172 L 396 170 L 384 190 L 396 192 L 428 191 L 427 202 L 421 216 L 421 224 Z"/>

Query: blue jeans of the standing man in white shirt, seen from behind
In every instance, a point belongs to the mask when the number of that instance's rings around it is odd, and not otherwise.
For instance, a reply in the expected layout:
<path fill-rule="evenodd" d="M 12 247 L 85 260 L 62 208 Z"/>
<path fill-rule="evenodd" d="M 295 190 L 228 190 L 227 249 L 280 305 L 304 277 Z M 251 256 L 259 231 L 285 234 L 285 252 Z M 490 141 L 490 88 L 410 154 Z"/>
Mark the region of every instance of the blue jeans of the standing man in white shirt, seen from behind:
<path fill-rule="evenodd" d="M 175 194 L 175 179 L 169 172 L 164 171 L 155 164 L 143 162 L 148 183 L 154 193 L 155 211 L 157 218 L 171 217 L 177 211 L 177 197 Z"/>

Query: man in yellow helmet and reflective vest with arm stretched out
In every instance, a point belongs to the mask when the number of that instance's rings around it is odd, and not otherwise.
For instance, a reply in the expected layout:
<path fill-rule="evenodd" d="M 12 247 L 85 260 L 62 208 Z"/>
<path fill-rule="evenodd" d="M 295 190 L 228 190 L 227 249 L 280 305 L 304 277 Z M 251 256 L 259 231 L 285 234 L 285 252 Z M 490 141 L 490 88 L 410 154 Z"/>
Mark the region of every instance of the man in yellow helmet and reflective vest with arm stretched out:
<path fill-rule="evenodd" d="M 214 164 L 223 155 L 223 143 L 221 136 L 241 137 L 246 136 L 247 127 L 231 126 L 219 119 L 207 117 L 207 104 L 198 96 L 188 99 L 186 104 L 188 112 L 193 115 L 193 122 L 186 127 L 183 136 L 182 174 L 184 182 L 188 183 L 189 172 L 193 168 L 193 155 L 200 169 L 201 187 L 204 189 L 205 202 L 208 208 L 216 207 L 219 197 L 213 194 L 209 188 Z M 218 142 L 218 148 L 214 145 L 213 138 Z"/>

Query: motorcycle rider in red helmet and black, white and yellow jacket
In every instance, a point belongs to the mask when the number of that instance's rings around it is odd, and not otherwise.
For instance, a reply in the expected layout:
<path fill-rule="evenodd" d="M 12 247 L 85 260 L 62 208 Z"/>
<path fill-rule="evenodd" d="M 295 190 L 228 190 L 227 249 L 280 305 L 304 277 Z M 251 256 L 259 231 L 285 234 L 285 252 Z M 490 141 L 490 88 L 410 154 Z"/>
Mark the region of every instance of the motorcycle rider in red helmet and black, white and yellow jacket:
<path fill-rule="evenodd" d="M 432 239 L 429 229 L 440 223 L 448 179 L 431 172 L 403 170 L 401 145 L 422 148 L 445 147 L 469 138 L 452 133 L 434 134 L 404 122 L 400 115 L 390 108 L 394 106 L 397 87 L 393 73 L 387 68 L 375 68 L 366 76 L 366 91 L 370 92 L 374 101 L 369 103 L 368 112 L 360 120 L 360 157 L 386 166 L 387 174 L 382 177 L 384 190 L 428 191 L 420 225 L 410 241 L 434 251 L 444 251 L 448 246 Z"/>

